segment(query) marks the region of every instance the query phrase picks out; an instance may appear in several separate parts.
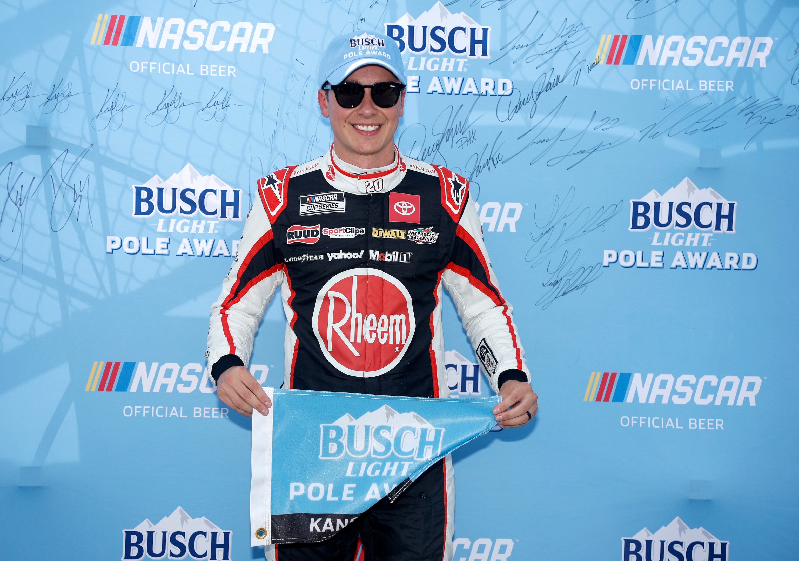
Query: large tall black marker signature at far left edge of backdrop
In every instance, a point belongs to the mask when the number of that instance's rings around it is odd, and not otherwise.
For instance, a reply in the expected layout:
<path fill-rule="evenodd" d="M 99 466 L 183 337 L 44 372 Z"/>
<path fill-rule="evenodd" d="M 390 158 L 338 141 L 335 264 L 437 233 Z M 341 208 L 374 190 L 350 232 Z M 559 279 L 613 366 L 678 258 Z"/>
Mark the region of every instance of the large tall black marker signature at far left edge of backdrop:
<path fill-rule="evenodd" d="M 92 214 L 89 205 L 91 176 L 87 173 L 85 178 L 78 181 L 74 181 L 73 176 L 92 146 L 89 145 L 84 149 L 70 165 L 67 165 L 70 151 L 64 150 L 38 181 L 36 177 L 26 177 L 25 172 L 17 172 L 13 161 L 0 169 L 0 181 L 3 175 L 6 176 L 6 195 L 0 208 L 0 261 L 10 260 L 17 249 L 22 251 L 26 213 L 30 207 L 28 203 L 40 187 L 52 189 L 53 202 L 49 209 L 48 225 L 53 232 L 61 231 L 72 217 L 75 221 L 80 221 L 84 205 L 91 224 Z"/>

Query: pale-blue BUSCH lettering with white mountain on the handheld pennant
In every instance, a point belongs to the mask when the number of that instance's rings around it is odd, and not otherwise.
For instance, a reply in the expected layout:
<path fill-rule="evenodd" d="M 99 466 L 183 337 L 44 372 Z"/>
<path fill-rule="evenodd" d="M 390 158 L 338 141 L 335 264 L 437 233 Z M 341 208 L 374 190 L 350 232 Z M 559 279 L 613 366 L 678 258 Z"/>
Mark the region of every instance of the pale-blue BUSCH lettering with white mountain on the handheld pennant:
<path fill-rule="evenodd" d="M 352 458 L 413 458 L 430 460 L 441 453 L 444 429 L 415 412 L 400 413 L 384 405 L 357 419 L 345 413 L 320 425 L 320 460 Z"/>

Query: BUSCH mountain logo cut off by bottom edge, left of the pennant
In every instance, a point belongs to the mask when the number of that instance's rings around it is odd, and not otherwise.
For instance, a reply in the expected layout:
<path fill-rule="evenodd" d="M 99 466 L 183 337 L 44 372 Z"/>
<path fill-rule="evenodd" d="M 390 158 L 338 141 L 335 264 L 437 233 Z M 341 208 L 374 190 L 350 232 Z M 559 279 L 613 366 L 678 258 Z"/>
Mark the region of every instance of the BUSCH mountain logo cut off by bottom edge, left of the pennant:
<path fill-rule="evenodd" d="M 133 530 L 123 530 L 121 559 L 184 559 L 188 553 L 191 559 L 229 561 L 232 541 L 233 531 L 177 507 L 158 523 L 145 519 Z"/>

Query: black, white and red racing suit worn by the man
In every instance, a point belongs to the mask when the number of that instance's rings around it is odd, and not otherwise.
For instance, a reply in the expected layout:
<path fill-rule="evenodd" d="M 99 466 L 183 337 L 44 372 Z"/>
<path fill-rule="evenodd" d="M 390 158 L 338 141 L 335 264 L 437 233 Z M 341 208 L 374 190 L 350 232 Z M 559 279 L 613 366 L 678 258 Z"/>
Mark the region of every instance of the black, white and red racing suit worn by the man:
<path fill-rule="evenodd" d="M 446 398 L 443 287 L 491 388 L 498 392 L 506 380 L 529 382 L 469 182 L 399 149 L 388 169 L 360 175 L 356 170 L 331 146 L 322 157 L 258 181 L 237 257 L 211 308 L 206 358 L 213 380 L 227 368 L 248 364 L 258 324 L 280 290 L 287 318 L 284 387 Z M 391 559 L 393 551 L 413 547 L 413 559 L 450 559 L 453 483 L 447 456 L 384 509 L 382 522 L 367 527 L 368 516 L 361 516 L 367 554 L 383 551 L 380 559 Z M 419 494 L 427 503 L 421 510 L 413 506 Z M 403 501 L 410 501 L 410 511 L 398 510 Z M 385 522 L 395 511 L 404 538 L 391 535 L 392 524 Z M 421 517 L 415 538 L 409 516 Z M 352 555 L 355 537 L 351 532 L 322 543 L 335 551 L 280 545 L 279 557 Z M 410 540 L 407 546 L 403 540 Z"/>

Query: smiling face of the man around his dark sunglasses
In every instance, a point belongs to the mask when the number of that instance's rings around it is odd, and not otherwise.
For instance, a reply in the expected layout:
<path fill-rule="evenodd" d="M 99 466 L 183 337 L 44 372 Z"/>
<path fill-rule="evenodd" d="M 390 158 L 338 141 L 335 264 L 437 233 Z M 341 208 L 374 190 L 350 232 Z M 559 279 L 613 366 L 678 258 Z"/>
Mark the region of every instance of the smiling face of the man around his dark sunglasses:
<path fill-rule="evenodd" d="M 383 66 L 368 65 L 361 66 L 344 82 L 377 84 L 400 81 Z M 380 153 L 394 141 L 394 133 L 403 113 L 405 92 L 403 90 L 400 101 L 393 107 L 375 105 L 371 88 L 364 92 L 364 100 L 360 105 L 352 109 L 340 106 L 336 101 L 336 94 L 330 90 L 319 90 L 318 99 L 322 114 L 330 119 L 337 151 L 371 156 Z"/>

